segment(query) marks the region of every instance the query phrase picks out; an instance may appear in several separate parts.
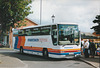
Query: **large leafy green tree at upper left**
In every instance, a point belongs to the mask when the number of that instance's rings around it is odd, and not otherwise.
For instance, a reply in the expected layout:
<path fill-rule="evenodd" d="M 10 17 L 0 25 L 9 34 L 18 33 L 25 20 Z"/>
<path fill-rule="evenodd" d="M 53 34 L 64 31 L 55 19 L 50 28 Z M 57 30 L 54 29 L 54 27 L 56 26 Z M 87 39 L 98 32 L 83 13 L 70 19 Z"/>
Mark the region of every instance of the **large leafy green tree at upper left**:
<path fill-rule="evenodd" d="M 10 27 L 23 20 L 30 13 L 31 0 L 0 0 L 0 24 L 2 31 L 9 31 Z"/>

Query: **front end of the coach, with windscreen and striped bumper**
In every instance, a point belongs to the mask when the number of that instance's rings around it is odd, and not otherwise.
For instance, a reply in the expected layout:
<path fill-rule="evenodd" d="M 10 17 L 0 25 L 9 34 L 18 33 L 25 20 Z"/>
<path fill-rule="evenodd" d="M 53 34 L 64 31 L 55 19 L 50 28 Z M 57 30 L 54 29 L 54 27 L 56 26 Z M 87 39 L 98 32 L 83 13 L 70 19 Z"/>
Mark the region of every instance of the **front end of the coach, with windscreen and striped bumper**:
<path fill-rule="evenodd" d="M 80 32 L 77 24 L 58 24 L 58 45 L 60 56 L 63 58 L 81 56 Z"/>

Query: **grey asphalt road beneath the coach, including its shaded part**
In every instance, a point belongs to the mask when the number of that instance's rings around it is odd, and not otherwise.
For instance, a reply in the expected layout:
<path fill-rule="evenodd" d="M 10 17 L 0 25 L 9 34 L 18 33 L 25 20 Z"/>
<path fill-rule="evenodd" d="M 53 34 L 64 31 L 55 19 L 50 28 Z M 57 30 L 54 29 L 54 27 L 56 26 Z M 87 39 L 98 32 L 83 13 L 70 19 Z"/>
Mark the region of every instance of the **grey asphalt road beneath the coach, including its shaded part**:
<path fill-rule="evenodd" d="M 45 59 L 41 56 L 20 54 L 10 49 L 0 49 L 0 54 L 15 57 L 28 65 L 28 68 L 93 68 L 79 59 Z"/>

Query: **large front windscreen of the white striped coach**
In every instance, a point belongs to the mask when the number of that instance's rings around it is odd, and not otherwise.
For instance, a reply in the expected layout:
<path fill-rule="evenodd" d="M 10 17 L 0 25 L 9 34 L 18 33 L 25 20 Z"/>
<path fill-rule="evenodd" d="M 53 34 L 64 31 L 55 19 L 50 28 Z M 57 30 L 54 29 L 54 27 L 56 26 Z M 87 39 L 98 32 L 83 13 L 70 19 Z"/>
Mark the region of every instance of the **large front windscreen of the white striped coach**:
<path fill-rule="evenodd" d="M 58 44 L 59 45 L 79 44 L 78 25 L 59 24 Z"/>

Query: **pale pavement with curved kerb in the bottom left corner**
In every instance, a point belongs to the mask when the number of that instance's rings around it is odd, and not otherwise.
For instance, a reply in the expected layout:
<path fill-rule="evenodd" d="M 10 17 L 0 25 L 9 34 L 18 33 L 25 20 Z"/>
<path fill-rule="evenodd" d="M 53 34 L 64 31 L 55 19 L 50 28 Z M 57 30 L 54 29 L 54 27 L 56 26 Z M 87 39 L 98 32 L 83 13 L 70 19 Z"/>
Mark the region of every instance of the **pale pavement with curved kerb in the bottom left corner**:
<path fill-rule="evenodd" d="M 3 48 L 10 49 L 10 48 Z M 0 54 L 0 68 L 28 68 L 20 59 Z"/>

